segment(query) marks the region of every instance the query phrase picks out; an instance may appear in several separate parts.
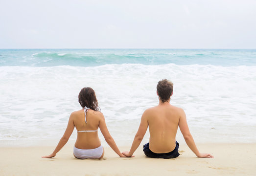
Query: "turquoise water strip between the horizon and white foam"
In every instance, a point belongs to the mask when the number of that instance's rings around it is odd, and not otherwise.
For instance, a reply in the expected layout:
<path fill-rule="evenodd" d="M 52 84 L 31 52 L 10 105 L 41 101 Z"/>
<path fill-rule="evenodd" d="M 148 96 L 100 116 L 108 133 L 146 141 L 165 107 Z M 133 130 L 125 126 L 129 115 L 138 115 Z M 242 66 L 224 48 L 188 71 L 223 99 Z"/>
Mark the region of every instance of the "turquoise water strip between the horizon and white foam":
<path fill-rule="evenodd" d="M 255 66 L 256 50 L 223 49 L 1 49 L 0 66 L 106 64 Z"/>

